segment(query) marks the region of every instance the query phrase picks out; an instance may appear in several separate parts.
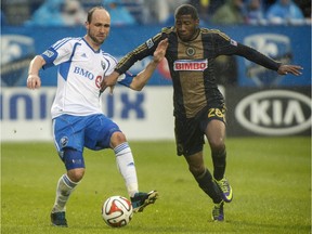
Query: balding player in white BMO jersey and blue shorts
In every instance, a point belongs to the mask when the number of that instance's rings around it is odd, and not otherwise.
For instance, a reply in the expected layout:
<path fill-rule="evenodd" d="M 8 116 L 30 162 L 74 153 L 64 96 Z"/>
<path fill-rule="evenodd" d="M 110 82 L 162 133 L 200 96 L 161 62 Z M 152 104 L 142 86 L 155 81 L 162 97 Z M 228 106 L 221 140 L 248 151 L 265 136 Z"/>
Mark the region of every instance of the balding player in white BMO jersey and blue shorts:
<path fill-rule="evenodd" d="M 80 38 L 64 38 L 46 52 L 34 57 L 29 65 L 27 87 L 41 86 L 39 70 L 58 66 L 57 91 L 51 108 L 54 144 L 67 172 L 56 186 L 51 222 L 55 226 L 67 226 L 66 203 L 84 174 L 83 148 L 93 151 L 113 148 L 134 211 L 155 203 L 158 193 L 139 192 L 136 170 L 131 148 L 119 127 L 101 109 L 100 83 L 109 75 L 117 61 L 101 50 L 109 34 L 110 16 L 102 6 L 88 13 L 87 35 Z M 138 90 L 140 79 L 151 77 L 162 60 L 168 47 L 164 40 L 154 53 L 152 62 L 138 76 L 122 76 L 119 83 Z M 140 88 L 139 88 L 140 89 Z"/>

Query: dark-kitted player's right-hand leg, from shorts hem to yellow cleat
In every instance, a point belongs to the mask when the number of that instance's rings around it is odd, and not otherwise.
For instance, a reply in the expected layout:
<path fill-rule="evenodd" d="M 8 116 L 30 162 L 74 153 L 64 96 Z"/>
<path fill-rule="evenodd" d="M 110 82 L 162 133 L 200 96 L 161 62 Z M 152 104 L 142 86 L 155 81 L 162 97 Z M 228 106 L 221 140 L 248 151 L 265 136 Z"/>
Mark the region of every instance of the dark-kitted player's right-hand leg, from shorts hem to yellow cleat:
<path fill-rule="evenodd" d="M 212 119 L 208 122 L 205 133 L 211 148 L 213 178 L 222 192 L 223 200 L 230 203 L 233 192 L 224 176 L 226 167 L 225 123 L 219 119 Z"/>

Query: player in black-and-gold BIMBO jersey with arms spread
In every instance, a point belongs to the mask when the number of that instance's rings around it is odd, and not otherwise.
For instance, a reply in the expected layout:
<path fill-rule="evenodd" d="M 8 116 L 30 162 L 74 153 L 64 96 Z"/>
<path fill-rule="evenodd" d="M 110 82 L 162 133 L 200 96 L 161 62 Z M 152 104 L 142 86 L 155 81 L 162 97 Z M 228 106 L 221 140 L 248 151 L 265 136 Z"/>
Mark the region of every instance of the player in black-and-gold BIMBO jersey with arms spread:
<path fill-rule="evenodd" d="M 199 187 L 212 199 L 212 220 L 223 221 L 223 205 L 233 198 L 225 178 L 225 104 L 218 89 L 213 61 L 219 55 L 239 55 L 280 75 L 301 75 L 302 67 L 284 65 L 246 47 L 220 30 L 200 28 L 196 9 L 180 5 L 176 23 L 129 52 L 117 64 L 115 72 L 101 83 L 102 91 L 113 88 L 120 74 L 136 61 L 153 55 L 158 43 L 167 38 L 166 52 L 173 83 L 173 115 L 177 154 L 183 155 Z M 213 172 L 204 162 L 203 147 L 207 138 Z"/>

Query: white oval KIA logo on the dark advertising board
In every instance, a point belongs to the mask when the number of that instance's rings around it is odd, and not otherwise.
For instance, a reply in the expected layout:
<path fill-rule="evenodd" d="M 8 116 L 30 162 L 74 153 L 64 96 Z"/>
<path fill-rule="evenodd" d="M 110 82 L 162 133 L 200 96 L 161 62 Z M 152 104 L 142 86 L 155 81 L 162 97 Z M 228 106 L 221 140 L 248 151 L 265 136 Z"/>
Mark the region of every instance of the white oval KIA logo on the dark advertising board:
<path fill-rule="evenodd" d="M 235 108 L 246 129 L 266 135 L 295 134 L 311 127 L 311 99 L 292 91 L 272 90 L 243 99 Z"/>

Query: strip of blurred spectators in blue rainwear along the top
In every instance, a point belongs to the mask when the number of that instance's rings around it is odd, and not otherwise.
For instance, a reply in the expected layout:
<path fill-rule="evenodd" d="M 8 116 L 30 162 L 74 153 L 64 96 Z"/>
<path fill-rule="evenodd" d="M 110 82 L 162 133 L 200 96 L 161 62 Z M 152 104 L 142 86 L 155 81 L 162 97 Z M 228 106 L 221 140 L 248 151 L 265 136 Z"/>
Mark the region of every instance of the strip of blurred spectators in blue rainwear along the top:
<path fill-rule="evenodd" d="M 78 25 L 83 24 L 90 8 L 104 5 L 113 12 L 113 24 L 172 24 L 173 11 L 182 3 L 196 6 L 205 23 L 311 24 L 311 0 L 2 0 L 1 22 L 14 26 Z M 227 17 L 222 17 L 224 12 Z"/>

